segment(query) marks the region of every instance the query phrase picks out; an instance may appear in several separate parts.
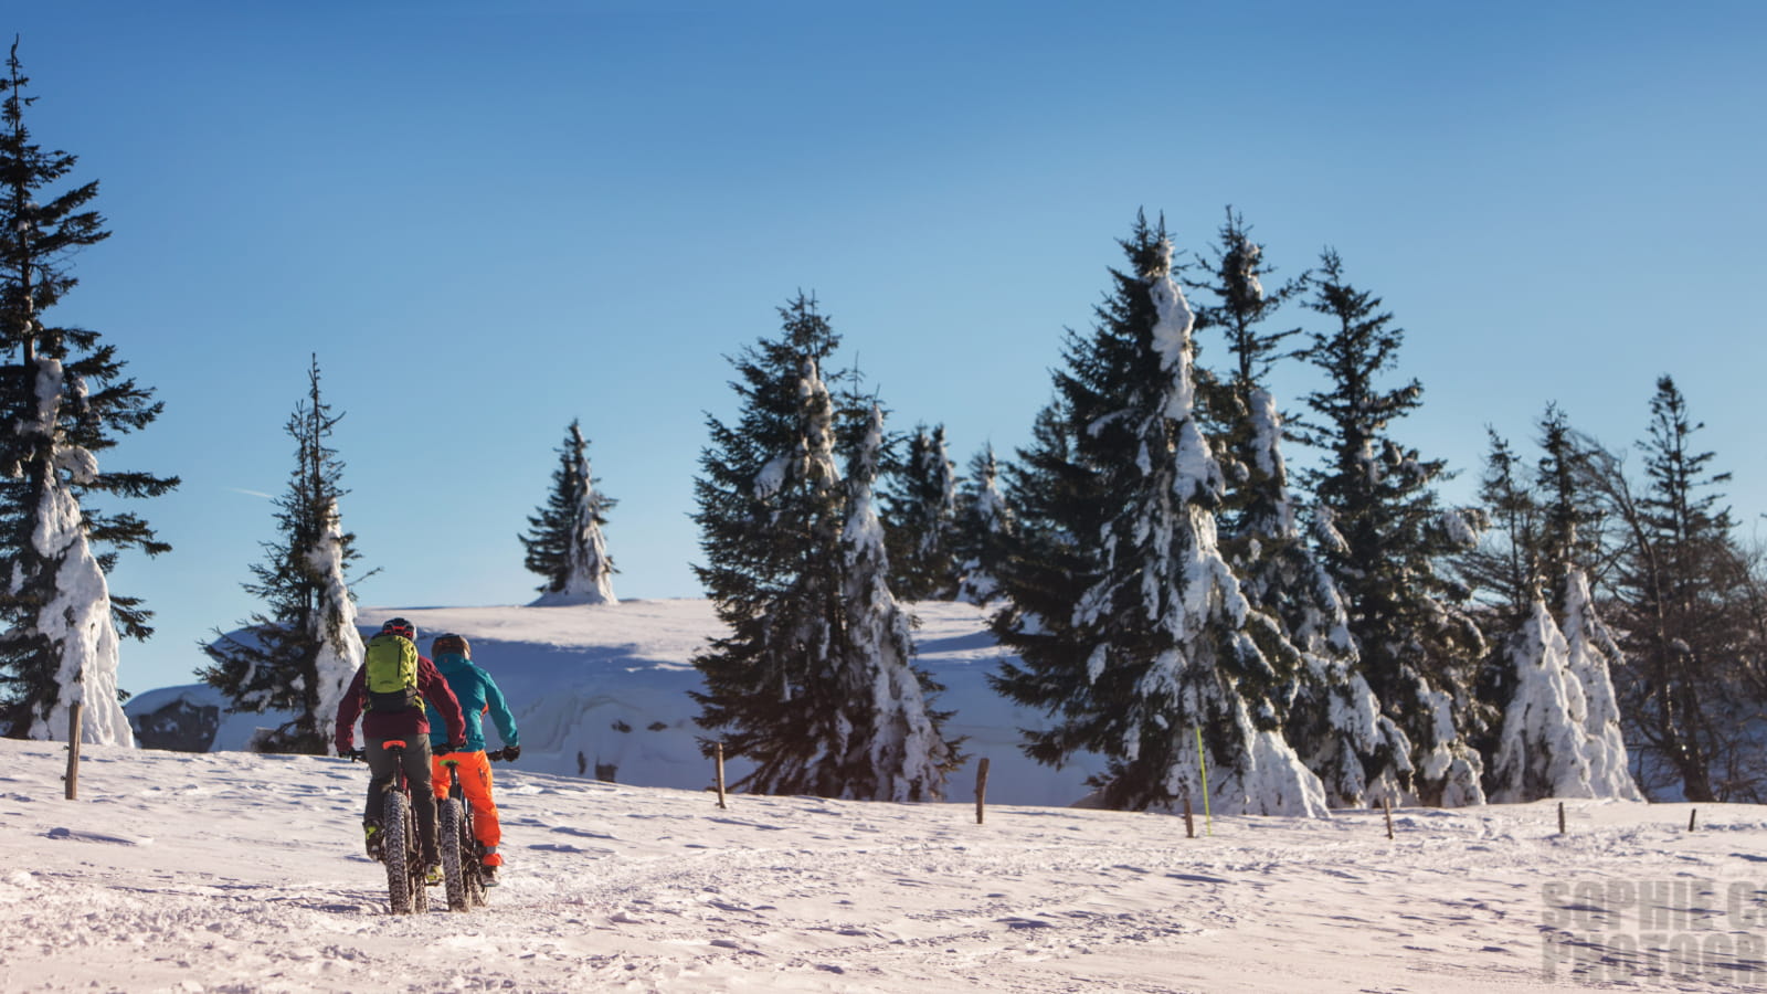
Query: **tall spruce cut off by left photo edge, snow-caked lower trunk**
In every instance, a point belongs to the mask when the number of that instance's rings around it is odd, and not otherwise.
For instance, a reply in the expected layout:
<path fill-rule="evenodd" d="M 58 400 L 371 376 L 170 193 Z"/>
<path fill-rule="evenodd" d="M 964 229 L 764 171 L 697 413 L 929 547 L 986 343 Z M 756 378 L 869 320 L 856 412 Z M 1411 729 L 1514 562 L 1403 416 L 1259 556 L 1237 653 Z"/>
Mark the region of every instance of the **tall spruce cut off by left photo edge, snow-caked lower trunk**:
<path fill-rule="evenodd" d="M 49 195 L 76 157 L 32 141 L 16 41 L 0 85 L 0 729 L 65 738 L 78 700 L 81 741 L 134 745 L 118 704 L 118 633 L 147 638 L 152 614 L 113 596 L 106 573 L 120 550 L 170 547 L 136 515 L 90 504 L 154 497 L 178 479 L 99 469 L 97 456 L 163 405 L 122 375 L 97 333 L 44 324 L 76 285 L 69 258 L 110 232 L 90 209 L 97 182 Z"/>

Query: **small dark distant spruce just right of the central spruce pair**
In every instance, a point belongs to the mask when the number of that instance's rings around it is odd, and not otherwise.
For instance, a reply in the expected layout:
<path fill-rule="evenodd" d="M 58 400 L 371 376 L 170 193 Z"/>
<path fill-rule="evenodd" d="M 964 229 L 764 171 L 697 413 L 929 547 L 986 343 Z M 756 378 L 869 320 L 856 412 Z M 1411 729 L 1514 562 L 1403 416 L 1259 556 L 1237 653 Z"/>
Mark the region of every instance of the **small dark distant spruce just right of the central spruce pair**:
<path fill-rule="evenodd" d="M 958 589 L 952 550 L 958 481 L 945 447 L 945 426 L 917 424 L 908 458 L 884 493 L 889 524 L 891 587 L 910 601 L 951 600 Z"/>

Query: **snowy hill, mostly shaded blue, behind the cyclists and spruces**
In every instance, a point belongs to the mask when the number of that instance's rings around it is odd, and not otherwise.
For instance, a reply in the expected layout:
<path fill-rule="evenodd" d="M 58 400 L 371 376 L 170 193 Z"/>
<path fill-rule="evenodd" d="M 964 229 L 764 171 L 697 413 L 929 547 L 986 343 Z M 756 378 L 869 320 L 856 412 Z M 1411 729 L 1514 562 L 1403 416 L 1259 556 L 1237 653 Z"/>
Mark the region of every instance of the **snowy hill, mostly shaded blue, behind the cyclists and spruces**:
<path fill-rule="evenodd" d="M 1071 805 L 1087 794 L 1085 778 L 1101 768 L 1080 757 L 1062 769 L 1037 766 L 1018 750 L 1018 729 L 1041 716 L 1016 707 L 988 686 L 1000 647 L 981 608 L 965 603 L 914 605 L 921 619 L 917 663 L 945 684 L 935 706 L 954 711 L 947 729 L 967 736 L 970 757 L 949 782 L 947 798 L 972 799 L 975 761 L 988 757 L 988 796 L 1011 805 Z M 521 766 L 542 773 L 611 778 L 647 787 L 701 789 L 714 780 L 700 755 L 693 723 L 700 688 L 691 658 L 721 626 L 705 600 L 633 600 L 574 607 L 364 608 L 364 633 L 410 617 L 419 644 L 456 631 L 472 656 L 497 677 L 521 730 Z M 143 745 L 168 745 L 155 727 L 180 715 L 209 715 L 217 725 L 203 738 L 212 750 L 244 750 L 260 725 L 279 718 L 224 715 L 205 684 L 152 690 L 129 700 L 127 713 Z M 187 718 L 201 723 L 200 718 Z M 495 746 L 495 732 L 488 732 Z M 178 736 L 171 736 L 178 738 Z M 733 782 L 746 766 L 730 762 Z"/>

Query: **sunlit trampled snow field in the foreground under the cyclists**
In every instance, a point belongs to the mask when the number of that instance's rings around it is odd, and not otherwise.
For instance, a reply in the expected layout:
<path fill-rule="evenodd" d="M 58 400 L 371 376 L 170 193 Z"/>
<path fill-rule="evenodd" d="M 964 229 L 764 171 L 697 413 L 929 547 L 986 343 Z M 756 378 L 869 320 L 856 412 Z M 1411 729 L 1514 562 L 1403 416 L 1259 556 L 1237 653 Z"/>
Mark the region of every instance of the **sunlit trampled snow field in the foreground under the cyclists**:
<path fill-rule="evenodd" d="M 505 884 L 387 914 L 341 759 L 0 741 L 0 990 L 1760 990 L 1767 808 L 1329 821 L 631 787 L 498 766 Z M 1198 835 L 1205 826 L 1198 819 Z M 1652 946 L 1677 950 L 1656 955 Z M 1649 975 L 1649 971 L 1680 971 Z"/>

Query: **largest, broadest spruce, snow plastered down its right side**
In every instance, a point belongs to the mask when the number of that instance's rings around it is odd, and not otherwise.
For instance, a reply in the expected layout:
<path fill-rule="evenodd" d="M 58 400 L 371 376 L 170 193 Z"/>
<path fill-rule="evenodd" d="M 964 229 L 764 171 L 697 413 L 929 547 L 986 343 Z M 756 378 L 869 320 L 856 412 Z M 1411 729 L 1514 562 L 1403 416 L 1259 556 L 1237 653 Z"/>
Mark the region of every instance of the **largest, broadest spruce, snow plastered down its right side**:
<path fill-rule="evenodd" d="M 1034 759 L 1106 757 L 1104 807 L 1202 807 L 1207 761 L 1214 810 L 1323 815 L 1323 787 L 1279 732 L 1276 690 L 1299 654 L 1216 548 L 1223 479 L 1194 412 L 1193 315 L 1164 223 L 1140 218 L 1122 246 L 1129 272 L 1111 272 L 1094 334 L 1071 334 L 1055 373 L 1062 435 L 1104 497 L 1101 529 L 1087 531 L 1099 511 L 1067 522 L 1097 548 L 1097 575 L 1074 598 L 1002 577 L 995 630 L 1020 661 L 995 686 L 1055 720 L 1028 732 Z"/>

